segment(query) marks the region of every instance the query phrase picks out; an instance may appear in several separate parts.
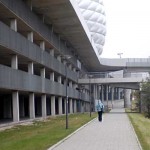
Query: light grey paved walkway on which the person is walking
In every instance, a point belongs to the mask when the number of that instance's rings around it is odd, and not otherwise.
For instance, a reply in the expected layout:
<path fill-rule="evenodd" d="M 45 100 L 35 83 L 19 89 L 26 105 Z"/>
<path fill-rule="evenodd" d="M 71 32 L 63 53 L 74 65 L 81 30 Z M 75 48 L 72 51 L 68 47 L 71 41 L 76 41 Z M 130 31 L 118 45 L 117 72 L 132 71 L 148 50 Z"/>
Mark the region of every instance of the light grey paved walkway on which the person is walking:
<path fill-rule="evenodd" d="M 141 150 L 124 108 L 104 114 L 49 150 Z"/>

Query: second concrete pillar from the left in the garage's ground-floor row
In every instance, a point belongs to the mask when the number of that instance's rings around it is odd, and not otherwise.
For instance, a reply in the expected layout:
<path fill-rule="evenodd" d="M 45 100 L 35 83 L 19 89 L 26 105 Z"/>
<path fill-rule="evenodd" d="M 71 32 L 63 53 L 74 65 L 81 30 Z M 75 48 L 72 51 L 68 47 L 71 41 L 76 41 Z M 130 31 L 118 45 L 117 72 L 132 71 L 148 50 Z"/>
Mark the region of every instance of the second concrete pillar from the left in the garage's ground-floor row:
<path fill-rule="evenodd" d="M 35 119 L 35 101 L 34 93 L 29 94 L 29 109 L 30 109 L 30 119 Z"/>

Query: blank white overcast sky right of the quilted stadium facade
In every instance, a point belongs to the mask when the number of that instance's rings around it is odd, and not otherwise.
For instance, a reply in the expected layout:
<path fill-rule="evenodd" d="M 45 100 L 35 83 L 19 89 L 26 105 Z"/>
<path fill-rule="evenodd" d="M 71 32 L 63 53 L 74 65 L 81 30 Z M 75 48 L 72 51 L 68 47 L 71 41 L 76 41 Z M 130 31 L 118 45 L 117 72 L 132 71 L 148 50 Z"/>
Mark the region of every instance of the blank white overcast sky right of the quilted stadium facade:
<path fill-rule="evenodd" d="M 150 56 L 150 0 L 103 0 L 107 35 L 101 57 Z"/>

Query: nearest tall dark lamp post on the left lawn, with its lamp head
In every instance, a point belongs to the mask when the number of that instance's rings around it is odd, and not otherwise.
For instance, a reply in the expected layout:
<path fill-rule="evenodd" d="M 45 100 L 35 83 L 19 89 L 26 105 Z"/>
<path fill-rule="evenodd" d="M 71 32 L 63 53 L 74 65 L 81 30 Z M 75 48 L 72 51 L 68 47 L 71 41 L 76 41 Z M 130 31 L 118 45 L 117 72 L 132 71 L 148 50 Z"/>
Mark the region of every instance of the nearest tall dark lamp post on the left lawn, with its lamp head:
<path fill-rule="evenodd" d="M 71 58 L 70 55 L 63 56 L 64 60 L 68 60 Z M 65 76 L 66 76 L 66 129 L 68 129 L 68 91 L 67 91 L 67 84 L 68 84 L 68 75 L 67 75 L 67 64 L 65 65 Z"/>

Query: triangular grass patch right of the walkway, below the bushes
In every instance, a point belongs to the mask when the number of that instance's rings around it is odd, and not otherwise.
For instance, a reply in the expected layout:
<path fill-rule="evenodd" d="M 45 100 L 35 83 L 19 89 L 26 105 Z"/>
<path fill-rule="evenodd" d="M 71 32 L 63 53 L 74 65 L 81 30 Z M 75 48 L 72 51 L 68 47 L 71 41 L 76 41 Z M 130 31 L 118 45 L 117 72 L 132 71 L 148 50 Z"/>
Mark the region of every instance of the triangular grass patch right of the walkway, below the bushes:
<path fill-rule="evenodd" d="M 127 110 L 129 112 L 129 110 Z M 143 150 L 150 150 L 150 119 L 135 112 L 128 113 Z"/>

